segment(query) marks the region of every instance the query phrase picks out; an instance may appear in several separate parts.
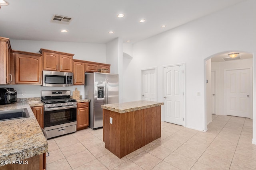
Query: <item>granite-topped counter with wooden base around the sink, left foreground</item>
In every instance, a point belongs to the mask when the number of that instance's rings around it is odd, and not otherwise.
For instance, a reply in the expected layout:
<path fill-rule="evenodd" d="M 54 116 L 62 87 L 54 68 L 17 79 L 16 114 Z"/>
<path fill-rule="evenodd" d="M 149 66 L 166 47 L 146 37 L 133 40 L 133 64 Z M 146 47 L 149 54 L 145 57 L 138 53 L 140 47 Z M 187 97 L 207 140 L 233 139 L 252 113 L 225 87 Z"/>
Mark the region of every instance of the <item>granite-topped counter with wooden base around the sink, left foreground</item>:
<path fill-rule="evenodd" d="M 42 103 L 32 104 L 38 105 Z M 48 143 L 28 102 L 0 105 L 0 110 L 21 108 L 30 117 L 0 121 L 0 170 L 45 168 Z"/>

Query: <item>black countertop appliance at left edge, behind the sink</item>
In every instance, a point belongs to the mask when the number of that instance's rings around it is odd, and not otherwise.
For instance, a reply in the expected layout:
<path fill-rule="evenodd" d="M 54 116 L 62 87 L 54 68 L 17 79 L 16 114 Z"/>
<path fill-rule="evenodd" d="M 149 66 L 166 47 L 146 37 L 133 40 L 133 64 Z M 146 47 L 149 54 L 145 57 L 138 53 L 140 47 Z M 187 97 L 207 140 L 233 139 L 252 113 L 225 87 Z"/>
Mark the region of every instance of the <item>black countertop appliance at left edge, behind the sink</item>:
<path fill-rule="evenodd" d="M 14 88 L 0 88 L 0 104 L 17 102 L 17 92 Z"/>

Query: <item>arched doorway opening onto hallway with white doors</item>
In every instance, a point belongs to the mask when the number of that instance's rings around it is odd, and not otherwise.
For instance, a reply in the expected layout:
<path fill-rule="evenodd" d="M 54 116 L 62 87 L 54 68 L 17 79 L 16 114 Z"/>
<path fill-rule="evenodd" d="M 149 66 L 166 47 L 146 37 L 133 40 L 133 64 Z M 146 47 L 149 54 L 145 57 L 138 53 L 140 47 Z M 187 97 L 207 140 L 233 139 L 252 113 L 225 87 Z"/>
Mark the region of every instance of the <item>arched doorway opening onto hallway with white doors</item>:
<path fill-rule="evenodd" d="M 231 53 L 239 54 L 231 58 Z M 224 51 L 205 59 L 206 126 L 212 122 L 212 113 L 252 119 L 252 56 L 244 51 Z M 248 114 L 243 115 L 245 112 Z"/>

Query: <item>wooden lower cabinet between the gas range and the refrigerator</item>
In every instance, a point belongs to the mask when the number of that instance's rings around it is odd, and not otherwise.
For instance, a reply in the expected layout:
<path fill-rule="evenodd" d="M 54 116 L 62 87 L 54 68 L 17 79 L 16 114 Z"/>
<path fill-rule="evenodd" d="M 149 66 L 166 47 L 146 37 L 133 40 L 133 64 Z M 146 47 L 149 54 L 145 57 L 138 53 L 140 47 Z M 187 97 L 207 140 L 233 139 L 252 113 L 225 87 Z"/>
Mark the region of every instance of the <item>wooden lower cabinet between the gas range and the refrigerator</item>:
<path fill-rule="evenodd" d="M 77 104 L 76 119 L 76 130 L 85 129 L 89 126 L 89 102 Z"/>

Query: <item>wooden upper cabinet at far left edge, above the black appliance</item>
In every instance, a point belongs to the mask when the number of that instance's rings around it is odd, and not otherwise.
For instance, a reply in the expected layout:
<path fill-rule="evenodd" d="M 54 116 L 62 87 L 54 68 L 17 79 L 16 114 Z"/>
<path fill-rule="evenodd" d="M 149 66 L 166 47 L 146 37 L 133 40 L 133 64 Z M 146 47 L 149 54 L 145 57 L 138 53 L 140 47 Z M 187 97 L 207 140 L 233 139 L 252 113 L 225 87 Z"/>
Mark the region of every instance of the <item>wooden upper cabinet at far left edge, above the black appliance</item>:
<path fill-rule="evenodd" d="M 10 40 L 0 37 L 0 84 L 12 84 L 12 76 L 10 73 Z"/>

